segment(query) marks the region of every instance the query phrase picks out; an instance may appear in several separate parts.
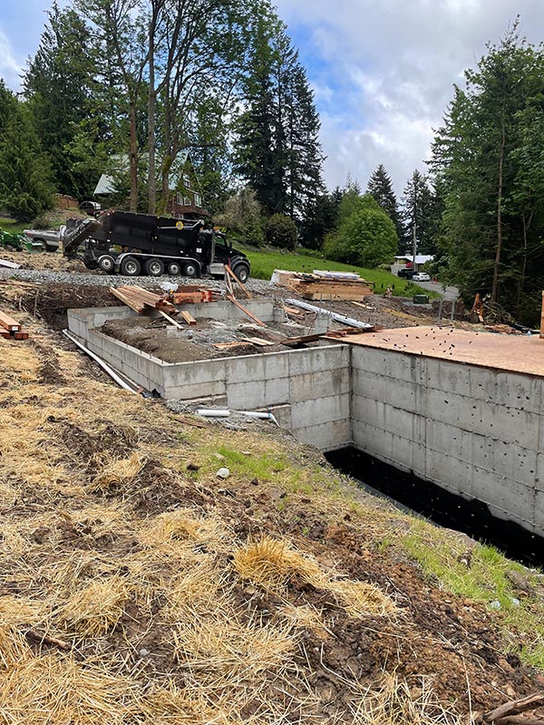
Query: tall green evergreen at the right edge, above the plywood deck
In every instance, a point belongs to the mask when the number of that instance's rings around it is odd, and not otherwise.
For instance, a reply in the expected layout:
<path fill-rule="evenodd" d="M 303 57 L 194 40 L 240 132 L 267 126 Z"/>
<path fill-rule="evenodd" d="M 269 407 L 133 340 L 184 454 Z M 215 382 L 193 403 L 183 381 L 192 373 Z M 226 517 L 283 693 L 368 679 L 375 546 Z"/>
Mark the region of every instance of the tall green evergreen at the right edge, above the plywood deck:
<path fill-rule="evenodd" d="M 489 294 L 534 324 L 544 283 L 544 53 L 514 24 L 465 77 L 433 146 L 441 247 L 467 298 Z"/>

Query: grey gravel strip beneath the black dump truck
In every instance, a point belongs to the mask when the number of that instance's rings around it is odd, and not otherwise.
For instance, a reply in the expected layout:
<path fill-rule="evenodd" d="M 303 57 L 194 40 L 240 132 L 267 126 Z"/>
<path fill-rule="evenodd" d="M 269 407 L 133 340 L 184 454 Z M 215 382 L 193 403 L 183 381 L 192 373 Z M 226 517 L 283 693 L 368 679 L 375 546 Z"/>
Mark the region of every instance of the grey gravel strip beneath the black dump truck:
<path fill-rule="evenodd" d="M 123 277 L 121 275 L 85 275 L 75 272 L 53 272 L 45 269 L 7 269 L 0 267 L 0 280 L 21 279 L 24 282 L 34 282 L 38 285 L 51 282 L 65 283 L 68 285 L 103 285 L 108 287 L 119 287 L 121 285 L 140 285 L 141 287 L 155 288 L 163 282 L 176 285 L 194 285 L 195 280 L 189 277 Z M 223 291 L 225 285 L 222 280 L 203 278 L 196 281 L 197 284 Z M 270 282 L 264 279 L 248 279 L 248 290 L 260 294 L 270 294 L 275 288 Z"/>

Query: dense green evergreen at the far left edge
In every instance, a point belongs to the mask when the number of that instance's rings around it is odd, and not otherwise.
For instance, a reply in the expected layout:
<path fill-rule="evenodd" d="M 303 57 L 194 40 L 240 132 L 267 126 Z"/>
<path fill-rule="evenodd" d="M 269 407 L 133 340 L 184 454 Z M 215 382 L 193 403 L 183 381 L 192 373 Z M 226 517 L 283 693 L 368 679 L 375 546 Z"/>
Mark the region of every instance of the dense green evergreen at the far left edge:
<path fill-rule="evenodd" d="M 2 107 L 8 115 L 2 118 Z M 19 221 L 30 221 L 53 207 L 49 159 L 40 146 L 32 117 L 23 103 L 0 86 L 0 208 Z"/>

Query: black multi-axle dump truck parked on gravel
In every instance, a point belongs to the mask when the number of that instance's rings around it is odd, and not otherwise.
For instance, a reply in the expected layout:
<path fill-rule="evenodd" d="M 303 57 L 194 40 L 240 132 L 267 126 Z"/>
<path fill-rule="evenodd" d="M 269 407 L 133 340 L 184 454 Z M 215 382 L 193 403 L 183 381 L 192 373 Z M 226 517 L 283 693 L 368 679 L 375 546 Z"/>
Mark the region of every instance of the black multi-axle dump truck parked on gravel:
<path fill-rule="evenodd" d="M 251 268 L 243 252 L 202 220 L 110 210 L 98 218 L 69 219 L 62 242 L 64 256 L 110 275 L 224 275 L 229 265 L 245 282 Z"/>

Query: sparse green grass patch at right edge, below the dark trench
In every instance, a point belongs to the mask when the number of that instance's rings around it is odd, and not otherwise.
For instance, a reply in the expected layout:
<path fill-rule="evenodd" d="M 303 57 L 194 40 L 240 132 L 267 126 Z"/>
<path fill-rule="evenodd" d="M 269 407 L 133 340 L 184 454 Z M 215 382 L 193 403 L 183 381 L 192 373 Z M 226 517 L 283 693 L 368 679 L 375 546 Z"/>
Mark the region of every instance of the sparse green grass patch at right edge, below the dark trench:
<path fill-rule="evenodd" d="M 535 587 L 539 585 L 537 576 L 502 556 L 493 546 L 476 544 L 470 552 L 465 551 L 462 543 L 452 544 L 440 529 L 430 530 L 426 522 L 414 522 L 410 534 L 403 537 L 402 546 L 421 565 L 423 573 L 437 580 L 443 589 L 481 602 L 490 611 L 495 611 L 499 602 L 496 612 L 504 623 L 510 649 L 524 662 L 544 668 L 544 616 L 539 596 L 522 596 L 507 574 L 517 571 Z M 523 640 L 531 640 L 521 651 L 517 639 L 509 637 L 509 633 L 516 631 L 523 633 Z"/>

